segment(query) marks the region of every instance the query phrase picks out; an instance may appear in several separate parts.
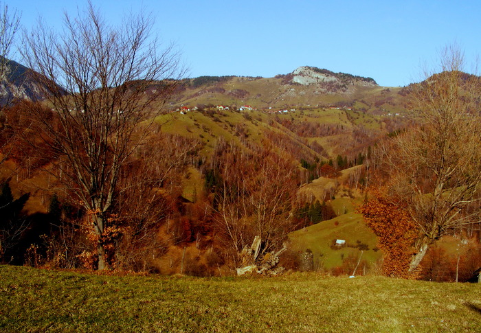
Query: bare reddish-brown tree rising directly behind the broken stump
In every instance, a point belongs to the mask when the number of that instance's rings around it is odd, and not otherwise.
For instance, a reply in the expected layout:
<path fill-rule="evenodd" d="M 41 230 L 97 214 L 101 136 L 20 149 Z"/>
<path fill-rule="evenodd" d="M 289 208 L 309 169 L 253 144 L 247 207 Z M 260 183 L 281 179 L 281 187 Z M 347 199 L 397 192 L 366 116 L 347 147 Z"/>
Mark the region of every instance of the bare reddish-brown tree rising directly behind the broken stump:
<path fill-rule="evenodd" d="M 295 164 L 272 148 L 251 148 L 254 152 L 231 148 L 221 172 L 216 222 L 234 259 L 256 236 L 261 242 L 259 257 L 278 251 L 295 228 L 291 215 L 298 188 Z"/>

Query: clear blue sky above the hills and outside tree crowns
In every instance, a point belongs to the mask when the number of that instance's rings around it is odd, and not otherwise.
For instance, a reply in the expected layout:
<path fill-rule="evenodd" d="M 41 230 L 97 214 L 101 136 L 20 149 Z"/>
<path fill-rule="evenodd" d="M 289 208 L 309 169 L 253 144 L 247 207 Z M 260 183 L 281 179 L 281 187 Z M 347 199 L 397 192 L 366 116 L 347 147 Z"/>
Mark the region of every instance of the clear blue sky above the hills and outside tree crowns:
<path fill-rule="evenodd" d="M 188 77 L 287 74 L 314 66 L 374 78 L 382 86 L 418 80 L 440 49 L 458 43 L 468 63 L 481 54 L 480 0 L 92 0 L 113 23 L 144 8 L 154 30 L 175 42 Z M 60 29 L 86 0 L 11 0 L 30 30 L 38 16 Z"/>

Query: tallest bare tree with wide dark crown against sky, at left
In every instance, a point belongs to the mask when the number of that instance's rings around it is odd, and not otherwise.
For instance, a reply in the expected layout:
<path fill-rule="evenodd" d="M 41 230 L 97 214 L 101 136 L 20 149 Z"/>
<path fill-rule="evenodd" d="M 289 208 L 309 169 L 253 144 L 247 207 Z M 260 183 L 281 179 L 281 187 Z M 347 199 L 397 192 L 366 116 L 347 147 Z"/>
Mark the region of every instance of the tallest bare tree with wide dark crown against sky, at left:
<path fill-rule="evenodd" d="M 24 35 L 23 56 L 52 109 L 36 104 L 32 119 L 58 156 L 58 178 L 91 215 L 98 269 L 122 165 L 172 93 L 175 80 L 166 79 L 179 75 L 179 54 L 159 49 L 152 25 L 143 13 L 110 25 L 89 2 L 65 14 L 63 32 L 40 23 Z"/>

